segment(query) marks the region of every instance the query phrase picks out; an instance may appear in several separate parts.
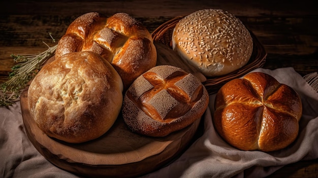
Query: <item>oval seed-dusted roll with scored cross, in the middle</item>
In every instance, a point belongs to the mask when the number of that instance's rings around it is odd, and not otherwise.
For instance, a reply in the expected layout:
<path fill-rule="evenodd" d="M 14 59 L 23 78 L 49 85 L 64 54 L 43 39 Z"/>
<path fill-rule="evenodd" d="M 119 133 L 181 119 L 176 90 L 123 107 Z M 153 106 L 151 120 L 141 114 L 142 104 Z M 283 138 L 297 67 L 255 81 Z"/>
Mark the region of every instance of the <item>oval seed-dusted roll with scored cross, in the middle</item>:
<path fill-rule="evenodd" d="M 166 136 L 201 118 L 208 102 L 208 92 L 194 75 L 179 67 L 158 65 L 126 91 L 122 115 L 134 132 Z"/>

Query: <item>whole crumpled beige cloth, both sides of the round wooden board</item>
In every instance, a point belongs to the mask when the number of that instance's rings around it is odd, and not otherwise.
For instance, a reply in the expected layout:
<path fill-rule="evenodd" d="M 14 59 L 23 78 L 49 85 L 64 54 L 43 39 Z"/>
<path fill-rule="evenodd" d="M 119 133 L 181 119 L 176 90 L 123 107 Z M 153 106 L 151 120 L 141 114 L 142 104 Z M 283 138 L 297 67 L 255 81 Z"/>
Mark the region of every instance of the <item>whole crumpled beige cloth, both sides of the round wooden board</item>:
<path fill-rule="evenodd" d="M 291 86 L 302 98 L 300 132 L 290 147 L 264 153 L 229 146 L 214 130 L 215 95 L 211 95 L 203 135 L 174 162 L 142 177 L 264 177 L 284 165 L 318 158 L 318 94 L 293 68 L 254 71 Z M 24 130 L 20 102 L 9 109 L 0 107 L 0 157 L 0 177 L 77 177 L 51 164 L 33 147 Z"/>

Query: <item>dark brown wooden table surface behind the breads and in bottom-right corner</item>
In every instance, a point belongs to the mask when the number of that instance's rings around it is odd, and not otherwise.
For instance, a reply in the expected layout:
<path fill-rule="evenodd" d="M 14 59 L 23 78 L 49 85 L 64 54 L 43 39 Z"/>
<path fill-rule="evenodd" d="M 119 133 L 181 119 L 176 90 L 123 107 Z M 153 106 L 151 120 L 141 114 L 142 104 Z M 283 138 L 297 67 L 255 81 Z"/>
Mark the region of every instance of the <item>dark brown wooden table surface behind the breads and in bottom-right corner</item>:
<path fill-rule="evenodd" d="M 125 12 L 150 32 L 179 15 L 200 9 L 224 9 L 236 15 L 264 45 L 264 68 L 294 67 L 304 76 L 318 72 L 318 9 L 315 1 L 2 1 L 0 2 L 0 83 L 14 65 L 11 54 L 37 53 L 56 42 L 68 25 L 87 12 L 108 16 Z M 318 160 L 300 161 L 270 177 L 317 177 Z"/>

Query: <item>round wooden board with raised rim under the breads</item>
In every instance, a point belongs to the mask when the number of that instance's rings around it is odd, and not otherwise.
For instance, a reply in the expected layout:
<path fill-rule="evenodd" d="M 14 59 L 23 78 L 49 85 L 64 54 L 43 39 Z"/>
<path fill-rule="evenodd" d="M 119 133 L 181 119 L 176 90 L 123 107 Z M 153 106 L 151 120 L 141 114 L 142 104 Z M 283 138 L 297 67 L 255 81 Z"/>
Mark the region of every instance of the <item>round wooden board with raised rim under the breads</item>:
<path fill-rule="evenodd" d="M 121 114 L 100 138 L 69 144 L 43 133 L 31 117 L 26 88 L 20 97 L 25 131 L 34 147 L 61 169 L 89 177 L 135 177 L 154 171 L 176 158 L 192 143 L 200 119 L 165 137 L 148 137 L 126 127 Z"/>

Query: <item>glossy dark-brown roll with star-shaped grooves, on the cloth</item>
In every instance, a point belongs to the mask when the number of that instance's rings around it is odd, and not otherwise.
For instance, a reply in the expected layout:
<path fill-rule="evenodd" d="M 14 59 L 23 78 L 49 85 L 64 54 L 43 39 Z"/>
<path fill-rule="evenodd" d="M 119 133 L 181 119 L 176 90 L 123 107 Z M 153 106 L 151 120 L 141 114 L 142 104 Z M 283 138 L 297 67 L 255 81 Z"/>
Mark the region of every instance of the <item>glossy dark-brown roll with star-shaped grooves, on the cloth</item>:
<path fill-rule="evenodd" d="M 264 73 L 250 73 L 220 88 L 213 124 L 230 145 L 264 152 L 283 149 L 297 137 L 302 103 L 291 87 Z"/>

